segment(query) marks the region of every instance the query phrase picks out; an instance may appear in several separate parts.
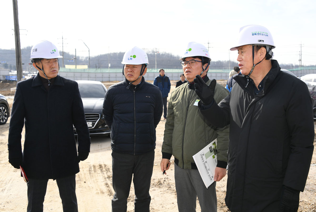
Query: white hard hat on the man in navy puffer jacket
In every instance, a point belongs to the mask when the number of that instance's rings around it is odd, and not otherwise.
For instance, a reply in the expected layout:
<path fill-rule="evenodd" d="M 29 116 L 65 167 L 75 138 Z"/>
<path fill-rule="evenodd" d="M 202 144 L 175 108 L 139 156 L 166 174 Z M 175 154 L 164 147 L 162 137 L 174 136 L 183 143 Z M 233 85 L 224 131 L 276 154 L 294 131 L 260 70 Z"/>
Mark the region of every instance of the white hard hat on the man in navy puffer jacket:
<path fill-rule="evenodd" d="M 141 64 L 148 64 L 148 57 L 146 52 L 135 46 L 131 49 L 128 49 L 122 60 L 122 64 L 129 64 L 129 65 L 141 65 Z"/>

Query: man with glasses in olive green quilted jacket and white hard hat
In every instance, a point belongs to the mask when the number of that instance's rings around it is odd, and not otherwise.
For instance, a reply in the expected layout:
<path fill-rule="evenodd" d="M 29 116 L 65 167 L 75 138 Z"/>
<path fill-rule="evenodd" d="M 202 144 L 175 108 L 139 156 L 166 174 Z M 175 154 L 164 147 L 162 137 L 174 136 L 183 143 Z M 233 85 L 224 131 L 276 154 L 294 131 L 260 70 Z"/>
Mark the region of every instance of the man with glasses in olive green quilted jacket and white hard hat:
<path fill-rule="evenodd" d="M 173 155 L 179 211 L 195 211 L 197 198 L 202 212 L 217 211 L 216 182 L 208 188 L 205 187 L 192 157 L 217 139 L 218 163 L 214 180 L 220 181 L 226 175 L 228 127 L 215 128 L 205 119 L 197 107 L 200 98 L 194 92 L 193 80 L 196 75 L 200 75 L 206 84 L 211 83 L 207 77 L 210 54 L 201 43 L 190 42 L 179 60 L 182 60 L 181 65 L 187 83 L 175 88 L 169 99 L 161 150 L 161 170 L 170 168 L 170 159 Z M 219 103 L 229 92 L 220 84 L 214 86 L 214 98 Z"/>

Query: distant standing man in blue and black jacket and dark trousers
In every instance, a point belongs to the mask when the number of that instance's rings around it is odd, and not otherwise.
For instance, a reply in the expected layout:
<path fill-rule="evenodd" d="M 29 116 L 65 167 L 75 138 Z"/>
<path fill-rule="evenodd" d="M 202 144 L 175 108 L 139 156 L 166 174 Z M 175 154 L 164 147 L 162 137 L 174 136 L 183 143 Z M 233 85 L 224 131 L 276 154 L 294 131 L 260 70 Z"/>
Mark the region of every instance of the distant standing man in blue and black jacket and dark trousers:
<path fill-rule="evenodd" d="M 163 101 L 163 120 L 167 118 L 167 97 L 170 92 L 171 83 L 169 77 L 165 75 L 165 70 L 159 70 L 159 76 L 155 77 L 154 85 L 158 86 L 161 90 Z"/>

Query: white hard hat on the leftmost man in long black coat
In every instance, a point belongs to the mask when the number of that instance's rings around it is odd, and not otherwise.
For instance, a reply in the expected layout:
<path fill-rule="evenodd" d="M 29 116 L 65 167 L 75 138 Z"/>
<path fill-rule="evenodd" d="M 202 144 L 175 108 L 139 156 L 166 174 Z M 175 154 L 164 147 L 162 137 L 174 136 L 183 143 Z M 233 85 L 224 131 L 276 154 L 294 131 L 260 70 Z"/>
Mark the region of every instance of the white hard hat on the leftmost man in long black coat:
<path fill-rule="evenodd" d="M 53 59 L 53 58 L 62 58 L 60 56 L 57 47 L 50 41 L 42 40 L 36 43 L 31 49 L 31 58 L 44 58 L 44 59 Z"/>

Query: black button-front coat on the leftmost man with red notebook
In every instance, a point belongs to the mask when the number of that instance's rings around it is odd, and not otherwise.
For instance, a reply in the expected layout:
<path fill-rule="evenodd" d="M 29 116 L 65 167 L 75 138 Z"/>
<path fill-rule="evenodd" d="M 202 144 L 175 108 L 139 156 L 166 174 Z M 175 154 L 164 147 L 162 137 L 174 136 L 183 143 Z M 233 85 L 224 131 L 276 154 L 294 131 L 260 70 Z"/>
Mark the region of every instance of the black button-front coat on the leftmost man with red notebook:
<path fill-rule="evenodd" d="M 22 167 L 31 179 L 55 180 L 78 173 L 73 126 L 78 133 L 78 152 L 89 152 L 89 129 L 76 81 L 58 75 L 49 91 L 39 74 L 17 83 L 9 125 L 9 159 L 23 157 Z"/>

